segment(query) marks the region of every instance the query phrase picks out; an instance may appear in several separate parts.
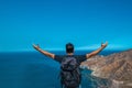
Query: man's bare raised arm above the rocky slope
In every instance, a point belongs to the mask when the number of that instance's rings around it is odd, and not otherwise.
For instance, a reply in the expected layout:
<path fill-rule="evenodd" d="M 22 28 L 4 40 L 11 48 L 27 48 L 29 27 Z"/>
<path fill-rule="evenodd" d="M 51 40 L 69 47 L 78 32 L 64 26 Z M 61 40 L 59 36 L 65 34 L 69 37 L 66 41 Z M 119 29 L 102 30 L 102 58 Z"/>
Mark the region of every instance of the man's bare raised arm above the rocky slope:
<path fill-rule="evenodd" d="M 90 58 L 90 57 L 97 55 L 97 54 L 100 53 L 107 45 L 108 45 L 108 42 L 106 42 L 105 44 L 101 44 L 101 47 L 100 47 L 100 48 L 98 48 L 97 51 L 94 51 L 94 52 L 91 52 L 91 53 L 89 53 L 89 54 L 86 54 L 86 57 L 87 57 L 87 58 Z"/>

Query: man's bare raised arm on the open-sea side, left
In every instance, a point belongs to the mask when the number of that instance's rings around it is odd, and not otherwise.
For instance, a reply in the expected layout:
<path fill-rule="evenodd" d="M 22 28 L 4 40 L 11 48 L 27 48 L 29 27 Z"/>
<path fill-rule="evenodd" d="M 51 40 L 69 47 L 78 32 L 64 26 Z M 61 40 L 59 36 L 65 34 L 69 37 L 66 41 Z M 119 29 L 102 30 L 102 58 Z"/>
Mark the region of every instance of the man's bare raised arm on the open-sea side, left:
<path fill-rule="evenodd" d="M 42 54 L 44 54 L 45 56 L 48 56 L 48 57 L 51 57 L 51 58 L 55 58 L 55 54 L 48 53 L 48 52 L 46 52 L 46 51 L 43 51 L 38 45 L 33 44 L 33 47 L 34 47 L 36 51 L 38 51 L 38 52 L 41 52 Z"/>

